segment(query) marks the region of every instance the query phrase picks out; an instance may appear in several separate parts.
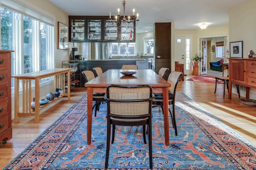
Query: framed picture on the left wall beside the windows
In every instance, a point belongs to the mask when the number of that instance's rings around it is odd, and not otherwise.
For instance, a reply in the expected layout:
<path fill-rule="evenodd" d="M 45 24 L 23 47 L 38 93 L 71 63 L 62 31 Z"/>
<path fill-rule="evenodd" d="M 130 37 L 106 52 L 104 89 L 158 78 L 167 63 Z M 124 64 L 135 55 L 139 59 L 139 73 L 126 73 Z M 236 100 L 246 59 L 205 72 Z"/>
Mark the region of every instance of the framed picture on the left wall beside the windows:
<path fill-rule="evenodd" d="M 58 22 L 58 49 L 68 49 L 68 26 Z"/>

